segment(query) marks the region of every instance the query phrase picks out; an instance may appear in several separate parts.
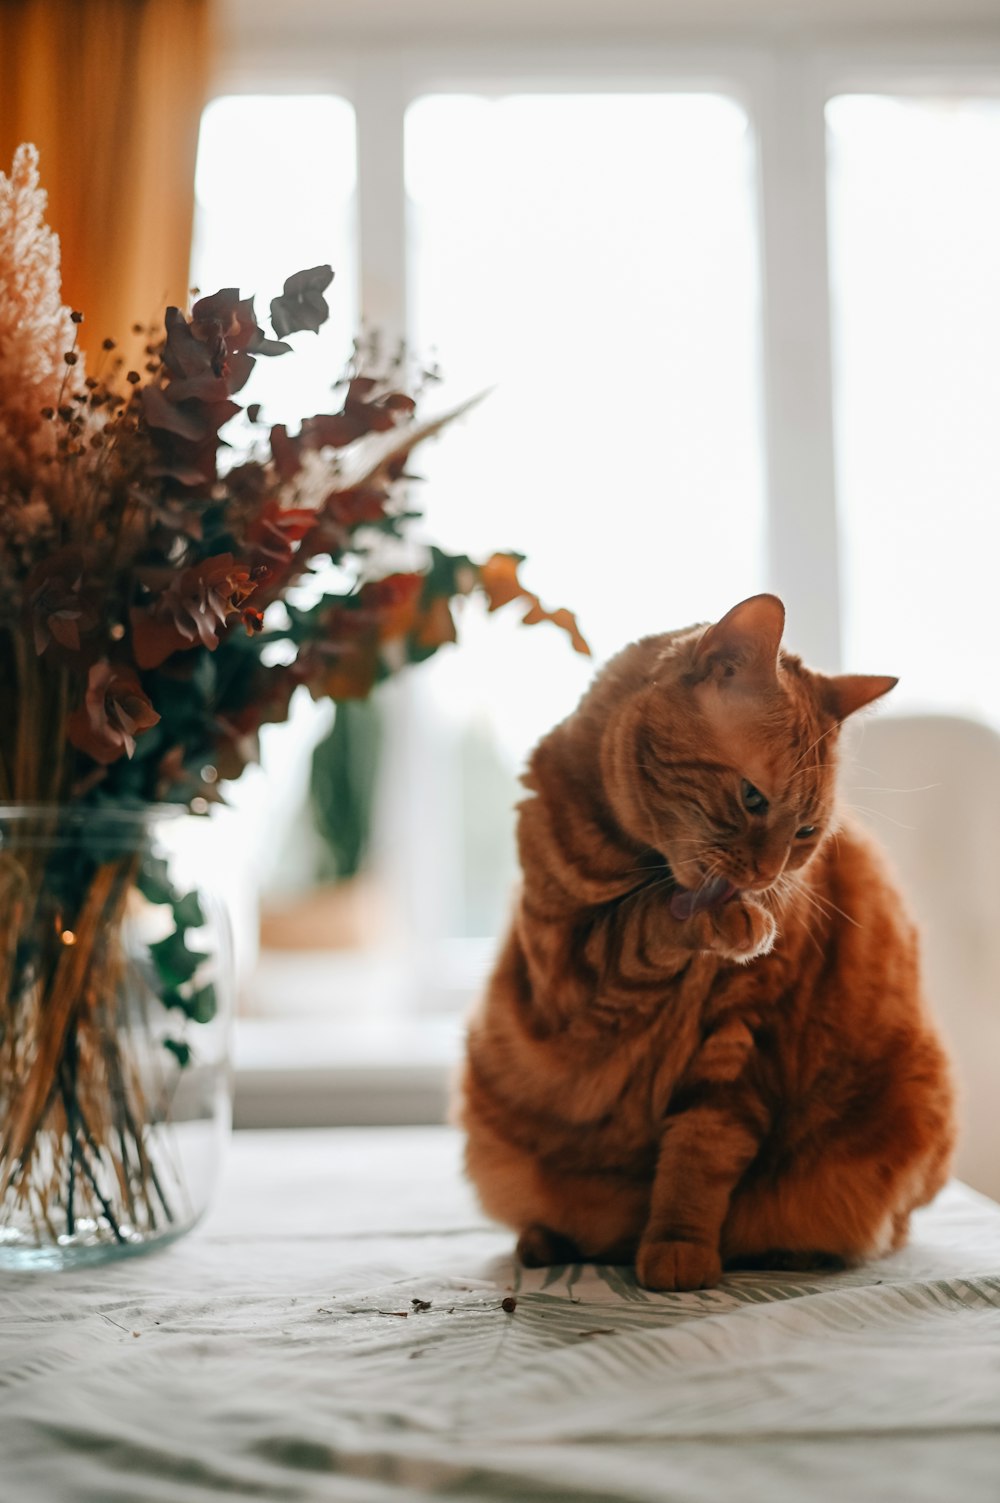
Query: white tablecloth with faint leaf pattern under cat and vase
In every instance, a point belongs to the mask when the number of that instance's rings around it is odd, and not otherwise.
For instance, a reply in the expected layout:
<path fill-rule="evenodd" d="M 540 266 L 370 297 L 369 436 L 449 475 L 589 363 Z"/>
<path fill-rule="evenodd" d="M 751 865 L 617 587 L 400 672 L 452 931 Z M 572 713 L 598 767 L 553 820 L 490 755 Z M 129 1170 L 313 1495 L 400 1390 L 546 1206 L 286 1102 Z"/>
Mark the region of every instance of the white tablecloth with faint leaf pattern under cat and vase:
<path fill-rule="evenodd" d="M 459 1159 L 242 1133 L 168 1250 L 0 1279 L 3 1503 L 1000 1498 L 991 1201 L 949 1187 L 859 1272 L 657 1296 L 520 1272 Z"/>

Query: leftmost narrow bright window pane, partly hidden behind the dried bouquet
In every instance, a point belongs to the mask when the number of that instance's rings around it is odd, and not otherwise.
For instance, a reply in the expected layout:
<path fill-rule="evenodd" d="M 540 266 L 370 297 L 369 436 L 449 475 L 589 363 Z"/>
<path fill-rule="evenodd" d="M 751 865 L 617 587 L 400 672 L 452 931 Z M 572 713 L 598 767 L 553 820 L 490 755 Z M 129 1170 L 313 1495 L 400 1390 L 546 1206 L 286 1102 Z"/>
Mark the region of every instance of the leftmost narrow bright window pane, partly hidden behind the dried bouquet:
<path fill-rule="evenodd" d="M 298 428 L 301 418 L 329 410 L 331 388 L 356 332 L 353 108 L 326 95 L 214 99 L 202 117 L 195 194 L 192 286 L 206 293 L 238 286 L 244 296 L 254 295 L 262 325 L 269 328 L 271 299 L 287 277 L 326 262 L 334 268 L 328 323 L 319 334 L 292 335 L 292 353 L 259 359 L 239 392 L 241 406 L 263 406 L 265 421 Z M 247 443 L 239 418 L 224 434 L 236 448 Z M 331 718 L 329 705 L 314 705 L 299 691 L 290 724 L 262 733 L 266 776 L 251 767 L 227 791 L 241 815 L 248 888 L 244 900 L 235 894 L 238 942 L 251 953 L 257 896 L 266 912 L 272 894 L 284 897 L 307 885 L 310 758 Z M 274 998 L 265 995 L 260 1006 L 284 1006 L 287 981 L 269 984 Z"/>

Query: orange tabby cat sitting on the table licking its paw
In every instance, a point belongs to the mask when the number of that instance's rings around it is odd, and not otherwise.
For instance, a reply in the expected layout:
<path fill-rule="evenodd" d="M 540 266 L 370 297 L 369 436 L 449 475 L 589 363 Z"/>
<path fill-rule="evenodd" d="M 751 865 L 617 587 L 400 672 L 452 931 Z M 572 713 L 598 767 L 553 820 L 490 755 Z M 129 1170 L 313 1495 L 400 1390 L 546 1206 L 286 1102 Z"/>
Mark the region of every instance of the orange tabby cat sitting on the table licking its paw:
<path fill-rule="evenodd" d="M 525 1264 L 850 1263 L 946 1178 L 914 927 L 835 800 L 841 721 L 896 681 L 811 672 L 783 621 L 755 595 L 626 648 L 531 758 L 459 1106 Z"/>

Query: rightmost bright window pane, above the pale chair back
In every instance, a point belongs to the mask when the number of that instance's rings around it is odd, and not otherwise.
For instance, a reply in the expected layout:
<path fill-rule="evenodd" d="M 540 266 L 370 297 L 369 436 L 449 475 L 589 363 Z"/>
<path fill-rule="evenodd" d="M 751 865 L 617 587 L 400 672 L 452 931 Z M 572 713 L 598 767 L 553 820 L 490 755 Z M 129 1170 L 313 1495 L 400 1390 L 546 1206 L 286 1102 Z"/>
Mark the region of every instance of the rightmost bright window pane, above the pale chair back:
<path fill-rule="evenodd" d="M 1000 721 L 1000 102 L 827 108 L 847 663 Z"/>

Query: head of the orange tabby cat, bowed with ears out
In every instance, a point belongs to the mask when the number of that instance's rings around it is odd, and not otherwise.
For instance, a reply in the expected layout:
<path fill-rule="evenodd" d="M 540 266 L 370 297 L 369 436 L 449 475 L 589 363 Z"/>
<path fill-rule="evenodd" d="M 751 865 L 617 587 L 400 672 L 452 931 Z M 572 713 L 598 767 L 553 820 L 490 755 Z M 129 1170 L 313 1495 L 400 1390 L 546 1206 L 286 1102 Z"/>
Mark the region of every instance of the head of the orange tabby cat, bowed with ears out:
<path fill-rule="evenodd" d="M 780 891 L 836 822 L 841 721 L 895 679 L 826 678 L 779 652 L 773 595 L 675 639 L 615 736 L 612 797 L 690 899 Z"/>

